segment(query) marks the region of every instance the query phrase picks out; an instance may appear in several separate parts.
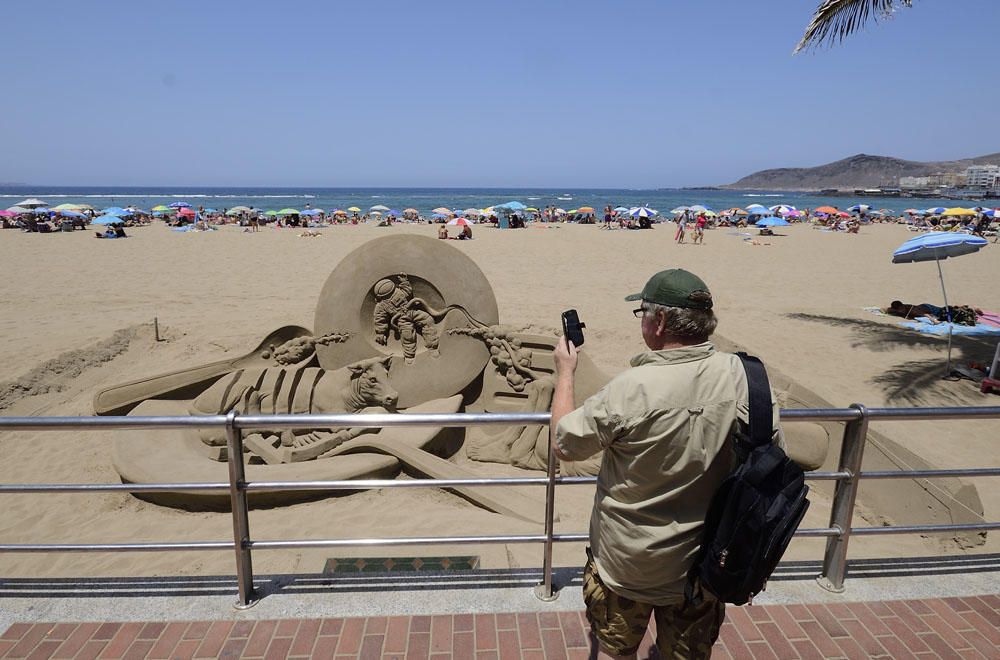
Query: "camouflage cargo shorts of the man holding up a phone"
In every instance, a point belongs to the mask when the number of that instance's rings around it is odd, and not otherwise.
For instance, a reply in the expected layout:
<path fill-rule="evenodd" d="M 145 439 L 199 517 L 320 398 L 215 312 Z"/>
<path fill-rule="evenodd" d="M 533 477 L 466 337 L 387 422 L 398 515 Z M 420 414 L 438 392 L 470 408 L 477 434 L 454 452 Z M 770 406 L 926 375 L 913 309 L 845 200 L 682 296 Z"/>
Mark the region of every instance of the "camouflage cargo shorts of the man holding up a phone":
<path fill-rule="evenodd" d="M 656 648 L 662 657 L 709 658 L 726 609 L 724 603 L 707 594 L 700 605 L 650 605 L 619 596 L 597 574 L 589 549 L 583 569 L 583 600 L 591 631 L 601 647 L 614 655 L 638 650 L 652 614 Z"/>

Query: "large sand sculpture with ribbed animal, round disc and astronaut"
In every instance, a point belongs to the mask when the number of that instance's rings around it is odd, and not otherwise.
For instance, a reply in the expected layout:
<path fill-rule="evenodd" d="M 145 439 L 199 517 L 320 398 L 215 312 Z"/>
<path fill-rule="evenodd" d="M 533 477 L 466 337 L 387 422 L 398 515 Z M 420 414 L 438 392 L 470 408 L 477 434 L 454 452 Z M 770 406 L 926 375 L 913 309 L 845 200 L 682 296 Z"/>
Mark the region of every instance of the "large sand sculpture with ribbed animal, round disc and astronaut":
<path fill-rule="evenodd" d="M 364 412 L 545 412 L 557 337 L 500 324 L 482 271 L 441 241 L 390 236 L 366 243 L 334 269 L 320 293 L 315 332 L 286 326 L 249 354 L 117 385 L 94 398 L 97 414 L 216 415 Z M 581 354 L 577 403 L 608 381 Z M 170 435 L 172 437 L 165 437 Z M 449 458 L 544 470 L 548 429 L 528 427 L 324 428 L 245 432 L 250 481 L 478 477 Z M 822 439 L 825 457 L 825 436 Z M 219 428 L 128 432 L 114 464 L 126 483 L 227 479 Z M 820 461 L 822 462 L 822 461 Z M 562 474 L 593 475 L 600 456 L 564 462 Z M 491 511 L 541 520 L 543 503 L 503 487 L 451 489 Z M 257 506 L 318 493 L 259 492 Z M 186 509 L 222 509 L 228 494 L 143 493 Z"/>

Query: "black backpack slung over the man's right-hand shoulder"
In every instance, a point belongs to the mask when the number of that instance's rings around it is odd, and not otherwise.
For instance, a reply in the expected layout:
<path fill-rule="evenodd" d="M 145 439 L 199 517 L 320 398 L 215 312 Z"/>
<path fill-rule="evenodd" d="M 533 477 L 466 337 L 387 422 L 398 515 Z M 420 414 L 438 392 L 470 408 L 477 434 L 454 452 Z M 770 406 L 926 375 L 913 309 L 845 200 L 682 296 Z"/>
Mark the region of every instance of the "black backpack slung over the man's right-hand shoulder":
<path fill-rule="evenodd" d="M 703 600 L 699 589 L 726 603 L 752 603 L 809 508 L 802 469 L 771 441 L 764 365 L 746 353 L 737 355 L 747 373 L 750 423 L 746 434 L 736 433 L 739 464 L 712 498 L 701 549 L 688 572 L 685 595 L 695 604 Z"/>

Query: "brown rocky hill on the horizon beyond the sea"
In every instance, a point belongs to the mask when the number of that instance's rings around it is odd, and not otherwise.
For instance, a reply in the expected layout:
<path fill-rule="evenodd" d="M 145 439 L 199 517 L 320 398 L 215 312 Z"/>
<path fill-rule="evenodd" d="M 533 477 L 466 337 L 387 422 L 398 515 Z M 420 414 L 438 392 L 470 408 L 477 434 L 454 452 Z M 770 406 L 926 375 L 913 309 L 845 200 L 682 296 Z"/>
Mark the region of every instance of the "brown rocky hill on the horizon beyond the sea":
<path fill-rule="evenodd" d="M 926 176 L 936 172 L 961 172 L 970 165 L 1000 165 L 1000 153 L 966 158 L 918 162 L 888 156 L 858 154 L 818 167 L 782 167 L 761 170 L 722 188 L 738 190 L 821 190 L 895 186 L 901 176 Z"/>

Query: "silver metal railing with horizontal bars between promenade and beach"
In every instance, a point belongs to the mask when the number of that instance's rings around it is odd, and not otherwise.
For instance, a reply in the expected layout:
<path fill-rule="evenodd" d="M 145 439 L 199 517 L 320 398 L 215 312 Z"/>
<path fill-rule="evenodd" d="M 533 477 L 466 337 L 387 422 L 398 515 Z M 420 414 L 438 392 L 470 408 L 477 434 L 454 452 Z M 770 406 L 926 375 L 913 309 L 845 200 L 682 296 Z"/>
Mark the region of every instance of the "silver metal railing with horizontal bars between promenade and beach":
<path fill-rule="evenodd" d="M 950 525 L 905 525 L 852 527 L 851 518 L 861 479 L 935 478 L 1000 476 L 1000 468 L 961 468 L 946 470 L 861 470 L 868 424 L 871 421 L 911 421 L 941 419 L 1000 419 L 1000 407 L 966 408 L 849 408 L 788 409 L 781 411 L 783 422 L 843 422 L 840 461 L 834 472 L 808 472 L 810 480 L 837 482 L 828 527 L 799 529 L 796 536 L 827 539 L 819 584 L 832 591 L 843 591 L 847 574 L 847 548 L 852 535 L 954 533 L 1000 529 L 1000 522 Z M 228 491 L 233 517 L 233 542 L 187 541 L 160 543 L 100 544 L 0 544 L 3 552 L 159 552 L 178 550 L 234 550 L 236 554 L 237 608 L 257 600 L 253 579 L 253 550 L 289 548 L 332 548 L 371 546 L 415 546 L 431 544 L 541 543 L 543 544 L 543 580 L 535 594 L 543 600 L 557 597 L 552 586 L 552 549 L 557 542 L 588 540 L 586 532 L 555 533 L 555 487 L 596 483 L 595 477 L 556 476 L 557 461 L 550 447 L 549 469 L 545 477 L 474 478 L 474 479 L 355 479 L 340 481 L 253 481 L 248 482 L 243 465 L 243 434 L 247 429 L 308 428 L 384 428 L 389 426 L 468 427 L 483 425 L 546 425 L 548 413 L 424 413 L 376 415 L 210 415 L 196 417 L 0 417 L 0 431 L 56 431 L 70 429 L 170 429 L 224 427 L 228 453 L 228 482 L 156 483 L 156 484 L 0 484 L 0 493 L 92 493 L 125 491 Z M 237 460 L 239 459 L 239 460 Z M 545 518 L 542 534 L 503 536 L 440 536 L 410 538 L 354 538 L 321 540 L 260 540 L 250 536 L 247 494 L 255 491 L 360 490 L 368 488 L 448 488 L 461 486 L 545 486 Z"/>

